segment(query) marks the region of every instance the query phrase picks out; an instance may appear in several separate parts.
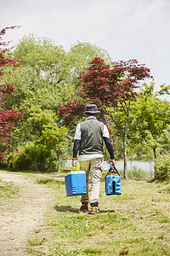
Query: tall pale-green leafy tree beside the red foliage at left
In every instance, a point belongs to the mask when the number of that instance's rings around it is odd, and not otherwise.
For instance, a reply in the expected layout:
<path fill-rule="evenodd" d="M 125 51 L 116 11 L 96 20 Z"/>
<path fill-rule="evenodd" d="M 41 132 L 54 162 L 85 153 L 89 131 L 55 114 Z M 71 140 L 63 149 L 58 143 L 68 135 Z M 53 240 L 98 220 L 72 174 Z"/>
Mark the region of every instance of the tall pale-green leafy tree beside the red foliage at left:
<path fill-rule="evenodd" d="M 10 108 L 28 110 L 34 106 L 56 111 L 73 95 L 70 67 L 62 46 L 45 38 L 24 37 L 14 49 L 14 57 L 20 59 L 22 68 L 11 70 L 13 76 L 7 78 L 16 90 L 6 99 Z"/>

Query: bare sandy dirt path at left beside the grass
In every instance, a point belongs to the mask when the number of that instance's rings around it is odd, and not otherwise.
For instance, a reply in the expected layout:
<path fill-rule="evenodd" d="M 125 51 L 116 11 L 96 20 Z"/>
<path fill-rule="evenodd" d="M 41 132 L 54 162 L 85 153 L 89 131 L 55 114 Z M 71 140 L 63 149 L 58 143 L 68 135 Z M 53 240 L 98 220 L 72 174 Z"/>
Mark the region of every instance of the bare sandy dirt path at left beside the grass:
<path fill-rule="evenodd" d="M 38 235 L 46 240 L 50 236 L 44 218 L 53 205 L 52 191 L 22 175 L 0 172 L 0 179 L 19 187 L 19 196 L 0 202 L 0 256 L 32 255 L 29 239 Z M 48 255 L 48 248 L 43 250 Z"/>

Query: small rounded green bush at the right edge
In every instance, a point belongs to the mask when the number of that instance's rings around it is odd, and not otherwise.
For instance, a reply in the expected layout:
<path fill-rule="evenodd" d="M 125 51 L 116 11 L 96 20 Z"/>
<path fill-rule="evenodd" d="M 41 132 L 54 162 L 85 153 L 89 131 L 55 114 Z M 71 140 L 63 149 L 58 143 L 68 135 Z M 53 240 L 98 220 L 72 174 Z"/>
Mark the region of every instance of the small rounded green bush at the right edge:
<path fill-rule="evenodd" d="M 169 181 L 170 180 L 170 157 L 167 154 L 161 155 L 156 161 L 156 180 Z"/>

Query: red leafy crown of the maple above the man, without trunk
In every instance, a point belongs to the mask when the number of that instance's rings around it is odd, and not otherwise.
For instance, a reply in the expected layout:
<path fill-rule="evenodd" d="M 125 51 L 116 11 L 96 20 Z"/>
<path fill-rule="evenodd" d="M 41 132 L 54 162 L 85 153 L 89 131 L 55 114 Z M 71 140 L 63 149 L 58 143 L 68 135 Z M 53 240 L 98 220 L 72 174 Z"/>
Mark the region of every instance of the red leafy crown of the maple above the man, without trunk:
<path fill-rule="evenodd" d="M 78 96 L 103 107 L 117 107 L 118 102 L 127 102 L 137 96 L 139 81 L 150 78 L 150 69 L 137 60 L 114 61 L 106 65 L 95 58 L 88 68 L 80 73 Z"/>

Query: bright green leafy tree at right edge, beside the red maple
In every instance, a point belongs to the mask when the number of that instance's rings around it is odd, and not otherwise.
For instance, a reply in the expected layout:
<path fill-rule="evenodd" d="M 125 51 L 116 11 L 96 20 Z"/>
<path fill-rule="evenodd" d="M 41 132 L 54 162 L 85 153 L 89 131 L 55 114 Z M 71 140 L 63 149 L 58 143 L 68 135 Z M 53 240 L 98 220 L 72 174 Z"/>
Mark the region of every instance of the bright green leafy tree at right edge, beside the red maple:
<path fill-rule="evenodd" d="M 154 83 L 143 84 L 144 90 L 132 104 L 128 140 L 151 148 L 156 160 L 156 149 L 167 145 L 169 141 L 167 131 L 170 128 L 170 103 L 161 100 L 159 96 L 169 94 L 170 86 L 162 85 L 161 90 L 156 92 L 154 86 Z"/>

